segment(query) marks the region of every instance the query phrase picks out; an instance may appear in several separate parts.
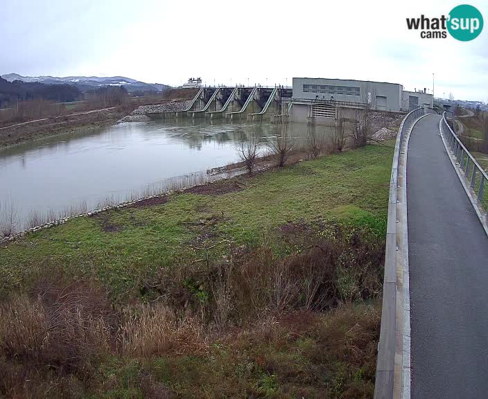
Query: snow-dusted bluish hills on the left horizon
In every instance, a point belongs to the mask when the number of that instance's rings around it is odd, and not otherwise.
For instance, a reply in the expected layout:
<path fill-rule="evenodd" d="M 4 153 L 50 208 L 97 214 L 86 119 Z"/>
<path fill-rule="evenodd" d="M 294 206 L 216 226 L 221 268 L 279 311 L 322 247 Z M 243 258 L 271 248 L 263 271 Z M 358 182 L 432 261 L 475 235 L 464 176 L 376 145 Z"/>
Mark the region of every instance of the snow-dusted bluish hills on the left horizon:
<path fill-rule="evenodd" d="M 21 76 L 18 73 L 7 73 L 1 78 L 8 82 L 21 80 L 26 83 L 44 83 L 45 85 L 73 85 L 81 91 L 89 91 L 107 86 L 123 86 L 129 93 L 134 91 L 165 91 L 171 89 L 170 86 L 159 83 L 145 83 L 139 80 L 124 78 L 123 76 L 110 76 L 99 78 L 98 76 Z"/>

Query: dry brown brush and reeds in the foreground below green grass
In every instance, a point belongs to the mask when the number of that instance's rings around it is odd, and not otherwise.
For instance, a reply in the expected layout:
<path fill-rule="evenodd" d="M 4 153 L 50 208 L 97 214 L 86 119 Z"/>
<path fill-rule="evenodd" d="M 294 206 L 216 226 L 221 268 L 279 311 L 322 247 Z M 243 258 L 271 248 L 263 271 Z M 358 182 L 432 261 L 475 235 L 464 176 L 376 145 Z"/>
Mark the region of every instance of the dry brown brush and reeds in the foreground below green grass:
<path fill-rule="evenodd" d="M 371 397 L 383 245 L 353 227 L 278 234 L 297 251 L 164 267 L 132 304 L 43 272 L 0 306 L 0 395 Z"/>

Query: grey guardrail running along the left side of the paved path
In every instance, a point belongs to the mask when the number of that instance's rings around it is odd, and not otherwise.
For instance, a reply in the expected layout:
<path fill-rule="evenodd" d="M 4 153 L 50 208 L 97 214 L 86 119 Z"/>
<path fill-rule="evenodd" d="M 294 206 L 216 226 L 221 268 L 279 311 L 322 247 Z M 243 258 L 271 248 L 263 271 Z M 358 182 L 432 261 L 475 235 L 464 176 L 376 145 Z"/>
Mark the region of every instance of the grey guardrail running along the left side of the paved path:
<path fill-rule="evenodd" d="M 383 307 L 381 310 L 381 330 L 378 342 L 378 360 L 376 362 L 376 382 L 374 386 L 375 399 L 393 399 L 395 373 L 395 348 L 397 342 L 397 263 L 403 265 L 404 252 L 399 255 L 397 249 L 397 202 L 399 189 L 399 159 L 403 153 L 404 139 L 410 131 L 412 125 L 426 112 L 424 107 L 409 112 L 401 122 L 392 163 L 392 175 L 390 178 L 390 197 L 388 199 L 388 221 L 386 230 L 386 254 L 385 254 L 385 274 L 383 278 Z M 403 160 L 405 162 L 405 160 Z M 401 308 L 401 307 L 399 307 Z M 400 351 L 403 350 L 403 344 Z M 402 378 L 402 371 L 397 373 L 397 378 Z"/>

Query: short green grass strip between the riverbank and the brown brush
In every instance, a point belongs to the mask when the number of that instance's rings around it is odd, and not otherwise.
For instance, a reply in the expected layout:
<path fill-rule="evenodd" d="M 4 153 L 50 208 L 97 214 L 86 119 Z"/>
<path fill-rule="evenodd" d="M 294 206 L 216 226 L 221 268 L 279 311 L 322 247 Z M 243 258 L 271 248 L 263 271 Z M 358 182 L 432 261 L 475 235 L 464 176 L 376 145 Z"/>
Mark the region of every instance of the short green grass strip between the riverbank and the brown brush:
<path fill-rule="evenodd" d="M 115 297 L 127 298 L 148 272 L 207 252 L 220 258 L 232 245 L 256 245 L 300 220 L 365 225 L 383 239 L 392 152 L 369 145 L 243 177 L 245 188 L 234 193 L 175 193 L 159 206 L 110 211 L 30 234 L 0 249 L 0 292 L 18 290 L 32 268 L 53 263 L 71 274 L 94 275 Z M 104 231 L 105 224 L 116 231 Z M 205 245 L 215 247 L 195 249 Z"/>

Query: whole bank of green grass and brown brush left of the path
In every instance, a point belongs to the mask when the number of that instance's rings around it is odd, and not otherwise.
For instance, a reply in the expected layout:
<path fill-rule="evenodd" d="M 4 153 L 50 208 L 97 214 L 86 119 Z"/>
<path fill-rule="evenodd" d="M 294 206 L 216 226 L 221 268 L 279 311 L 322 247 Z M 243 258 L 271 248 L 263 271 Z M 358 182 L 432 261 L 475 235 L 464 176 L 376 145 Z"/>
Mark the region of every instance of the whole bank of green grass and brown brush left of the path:
<path fill-rule="evenodd" d="M 0 248 L 0 394 L 372 398 L 393 145 Z"/>

